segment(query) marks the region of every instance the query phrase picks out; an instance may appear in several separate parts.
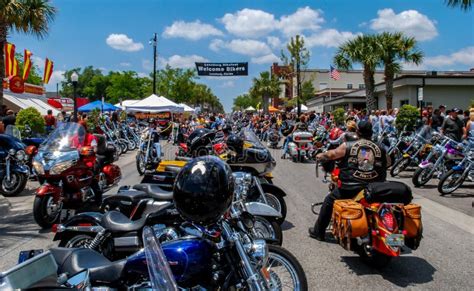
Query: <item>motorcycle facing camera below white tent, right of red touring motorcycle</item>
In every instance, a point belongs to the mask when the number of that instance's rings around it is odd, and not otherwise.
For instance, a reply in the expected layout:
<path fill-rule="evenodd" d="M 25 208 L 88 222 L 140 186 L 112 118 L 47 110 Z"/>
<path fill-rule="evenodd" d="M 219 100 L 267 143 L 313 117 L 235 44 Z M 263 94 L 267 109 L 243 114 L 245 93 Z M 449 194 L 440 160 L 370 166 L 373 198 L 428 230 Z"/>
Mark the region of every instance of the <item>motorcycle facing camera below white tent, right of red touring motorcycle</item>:
<path fill-rule="evenodd" d="M 144 175 L 147 170 L 156 169 L 162 153 L 160 131 L 151 126 L 142 132 L 136 156 L 138 174 Z"/>

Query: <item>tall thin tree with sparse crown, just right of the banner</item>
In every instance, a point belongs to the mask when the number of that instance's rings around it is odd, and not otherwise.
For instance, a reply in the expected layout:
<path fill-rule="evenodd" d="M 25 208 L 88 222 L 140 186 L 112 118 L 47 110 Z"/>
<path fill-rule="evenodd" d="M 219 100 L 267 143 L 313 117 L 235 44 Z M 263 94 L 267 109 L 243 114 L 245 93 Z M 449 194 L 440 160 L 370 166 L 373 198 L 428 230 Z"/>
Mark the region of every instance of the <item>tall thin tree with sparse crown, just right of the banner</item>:
<path fill-rule="evenodd" d="M 304 38 L 300 35 L 296 35 L 290 39 L 290 42 L 286 45 L 289 52 L 289 56 L 281 52 L 281 59 L 285 65 L 293 67 L 293 72 L 296 72 L 296 103 L 297 113 L 301 114 L 301 67 L 305 67 L 309 63 L 310 53 L 305 47 Z"/>

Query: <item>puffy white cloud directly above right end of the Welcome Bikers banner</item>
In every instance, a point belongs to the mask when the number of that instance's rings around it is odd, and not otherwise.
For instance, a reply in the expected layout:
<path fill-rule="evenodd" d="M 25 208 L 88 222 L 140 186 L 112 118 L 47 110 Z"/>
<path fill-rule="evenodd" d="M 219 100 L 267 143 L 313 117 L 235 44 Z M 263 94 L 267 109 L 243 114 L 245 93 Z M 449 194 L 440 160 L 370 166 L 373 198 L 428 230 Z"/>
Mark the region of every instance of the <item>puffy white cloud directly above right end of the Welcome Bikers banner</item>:
<path fill-rule="evenodd" d="M 273 14 L 248 8 L 234 14 L 227 13 L 220 20 L 228 32 L 240 37 L 264 36 L 278 26 Z"/>

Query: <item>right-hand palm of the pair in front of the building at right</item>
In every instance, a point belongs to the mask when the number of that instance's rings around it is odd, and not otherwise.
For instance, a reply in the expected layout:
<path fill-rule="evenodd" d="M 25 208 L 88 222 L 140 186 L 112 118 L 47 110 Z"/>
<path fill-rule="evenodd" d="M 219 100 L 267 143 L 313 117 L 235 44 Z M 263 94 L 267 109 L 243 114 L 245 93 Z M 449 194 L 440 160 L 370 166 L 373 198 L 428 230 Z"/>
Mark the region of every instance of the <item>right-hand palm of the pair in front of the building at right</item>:
<path fill-rule="evenodd" d="M 421 64 L 423 52 L 416 47 L 413 37 L 405 36 L 401 32 L 384 32 L 376 35 L 379 46 L 379 56 L 385 72 L 385 98 L 387 109 L 392 108 L 393 79 L 401 70 L 401 62 Z"/>

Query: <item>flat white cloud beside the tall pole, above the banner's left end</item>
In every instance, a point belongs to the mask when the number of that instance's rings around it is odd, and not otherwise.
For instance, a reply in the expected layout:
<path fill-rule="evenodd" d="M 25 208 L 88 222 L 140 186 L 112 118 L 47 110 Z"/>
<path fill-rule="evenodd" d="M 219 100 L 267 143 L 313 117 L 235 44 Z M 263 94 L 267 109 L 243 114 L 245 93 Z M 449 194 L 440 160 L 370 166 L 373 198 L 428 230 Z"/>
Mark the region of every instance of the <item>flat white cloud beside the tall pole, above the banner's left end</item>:
<path fill-rule="evenodd" d="M 181 37 L 189 40 L 222 35 L 224 35 L 222 31 L 199 20 L 194 22 L 175 21 L 171 26 L 167 26 L 163 32 L 163 36 L 166 38 Z"/>

